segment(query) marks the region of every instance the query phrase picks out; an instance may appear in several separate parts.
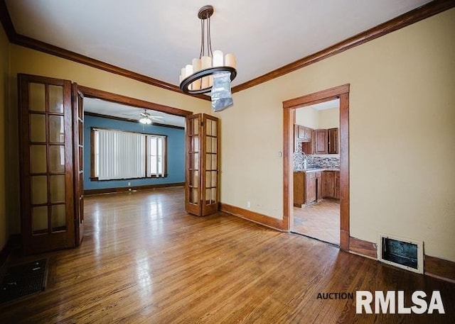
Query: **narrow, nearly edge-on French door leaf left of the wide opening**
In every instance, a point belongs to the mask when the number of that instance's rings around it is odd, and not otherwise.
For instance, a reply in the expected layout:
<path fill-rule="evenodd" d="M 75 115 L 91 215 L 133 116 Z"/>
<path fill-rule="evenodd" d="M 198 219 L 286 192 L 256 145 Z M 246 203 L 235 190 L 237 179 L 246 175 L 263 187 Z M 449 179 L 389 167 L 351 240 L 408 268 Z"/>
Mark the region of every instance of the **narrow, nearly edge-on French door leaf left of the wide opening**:
<path fill-rule="evenodd" d="M 74 141 L 74 215 L 75 245 L 84 238 L 84 95 L 73 83 L 73 141 Z"/>

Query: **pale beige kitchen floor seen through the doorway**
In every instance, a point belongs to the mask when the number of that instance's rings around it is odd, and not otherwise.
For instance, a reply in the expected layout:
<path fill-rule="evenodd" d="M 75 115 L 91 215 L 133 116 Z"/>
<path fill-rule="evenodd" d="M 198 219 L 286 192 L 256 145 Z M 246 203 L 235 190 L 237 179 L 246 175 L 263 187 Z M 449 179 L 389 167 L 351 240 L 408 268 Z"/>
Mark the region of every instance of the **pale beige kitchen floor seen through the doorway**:
<path fill-rule="evenodd" d="M 340 201 L 323 200 L 294 207 L 292 232 L 340 245 Z"/>

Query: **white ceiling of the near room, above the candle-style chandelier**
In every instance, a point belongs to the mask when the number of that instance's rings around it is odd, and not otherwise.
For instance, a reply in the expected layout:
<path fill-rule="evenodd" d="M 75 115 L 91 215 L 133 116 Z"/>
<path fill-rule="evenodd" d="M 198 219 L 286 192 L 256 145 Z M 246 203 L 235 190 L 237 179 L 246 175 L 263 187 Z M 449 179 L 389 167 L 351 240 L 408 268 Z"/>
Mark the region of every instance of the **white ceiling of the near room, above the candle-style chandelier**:
<path fill-rule="evenodd" d="M 200 7 L 213 50 L 234 52 L 242 84 L 428 0 L 6 0 L 16 32 L 170 84 L 199 55 Z"/>

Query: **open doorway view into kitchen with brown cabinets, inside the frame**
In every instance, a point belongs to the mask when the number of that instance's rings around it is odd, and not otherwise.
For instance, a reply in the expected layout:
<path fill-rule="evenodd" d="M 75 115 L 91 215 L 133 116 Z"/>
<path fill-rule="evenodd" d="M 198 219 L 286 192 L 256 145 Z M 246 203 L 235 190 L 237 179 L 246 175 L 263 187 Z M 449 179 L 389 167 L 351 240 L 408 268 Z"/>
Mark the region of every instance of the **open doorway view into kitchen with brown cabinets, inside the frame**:
<path fill-rule="evenodd" d="M 294 217 L 290 228 L 292 233 L 337 246 L 340 245 L 339 116 L 339 99 L 295 109 Z"/>

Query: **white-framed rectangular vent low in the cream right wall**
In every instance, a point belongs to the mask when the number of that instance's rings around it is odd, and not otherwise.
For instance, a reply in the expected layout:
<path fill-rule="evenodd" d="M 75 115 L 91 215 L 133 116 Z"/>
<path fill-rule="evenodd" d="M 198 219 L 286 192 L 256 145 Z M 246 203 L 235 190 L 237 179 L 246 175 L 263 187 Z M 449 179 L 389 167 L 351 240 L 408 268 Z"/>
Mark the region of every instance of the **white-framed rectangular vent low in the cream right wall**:
<path fill-rule="evenodd" d="M 378 247 L 380 248 L 378 256 L 381 262 L 423 274 L 423 242 L 413 242 L 381 234 Z"/>

